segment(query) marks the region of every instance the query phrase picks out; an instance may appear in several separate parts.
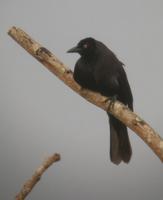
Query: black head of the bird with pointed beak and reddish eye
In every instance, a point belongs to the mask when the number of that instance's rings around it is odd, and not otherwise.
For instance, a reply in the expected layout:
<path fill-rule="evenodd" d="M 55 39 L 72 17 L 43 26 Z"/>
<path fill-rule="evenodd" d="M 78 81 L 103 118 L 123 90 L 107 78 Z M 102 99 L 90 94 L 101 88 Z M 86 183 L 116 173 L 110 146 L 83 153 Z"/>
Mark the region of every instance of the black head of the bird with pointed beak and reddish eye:
<path fill-rule="evenodd" d="M 79 53 L 81 56 L 89 56 L 94 53 L 95 49 L 96 40 L 89 37 L 81 40 L 77 46 L 69 49 L 67 53 Z"/>

